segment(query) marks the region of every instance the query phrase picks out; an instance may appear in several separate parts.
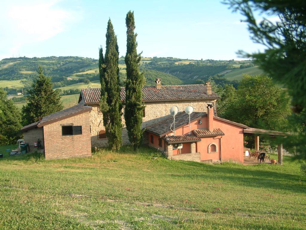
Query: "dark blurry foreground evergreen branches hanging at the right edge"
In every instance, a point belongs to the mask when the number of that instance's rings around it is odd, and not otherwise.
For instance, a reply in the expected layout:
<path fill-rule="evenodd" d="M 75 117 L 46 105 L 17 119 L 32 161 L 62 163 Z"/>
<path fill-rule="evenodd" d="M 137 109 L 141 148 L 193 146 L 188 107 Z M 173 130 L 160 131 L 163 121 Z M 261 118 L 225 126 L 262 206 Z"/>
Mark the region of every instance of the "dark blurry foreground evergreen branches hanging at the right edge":
<path fill-rule="evenodd" d="M 293 135 L 288 136 L 285 146 L 295 147 L 299 157 L 306 159 L 306 10 L 305 1 L 297 0 L 225 0 L 234 11 L 245 16 L 252 39 L 266 46 L 264 52 L 243 53 L 274 80 L 284 85 L 292 96 L 289 117 Z M 255 12 L 255 13 L 254 13 Z M 256 13 L 279 17 L 273 23 L 268 19 L 257 23 Z"/>

